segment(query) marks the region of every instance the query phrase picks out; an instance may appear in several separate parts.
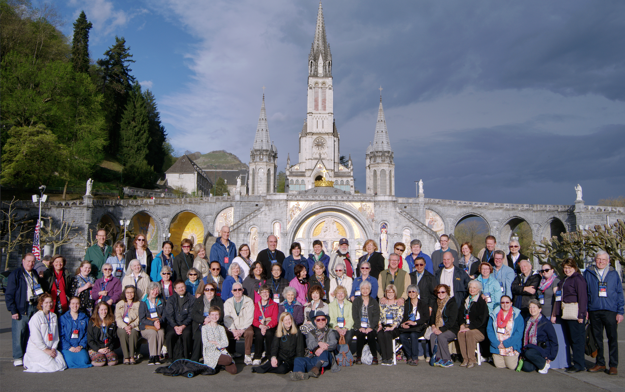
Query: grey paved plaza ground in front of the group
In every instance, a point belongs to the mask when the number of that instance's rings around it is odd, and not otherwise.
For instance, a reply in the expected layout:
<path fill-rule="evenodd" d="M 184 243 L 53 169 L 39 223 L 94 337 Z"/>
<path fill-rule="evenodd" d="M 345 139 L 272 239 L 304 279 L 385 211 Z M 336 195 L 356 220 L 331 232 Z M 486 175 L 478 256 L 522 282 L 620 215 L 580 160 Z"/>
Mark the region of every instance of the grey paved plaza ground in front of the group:
<path fill-rule="evenodd" d="M 625 323 L 619 324 L 619 361 L 625 363 Z M 606 342 L 607 346 L 607 342 Z M 144 344 L 142 353 L 148 356 Z M 237 347 L 242 352 L 242 344 Z M 121 354 L 121 350 L 119 350 Z M 148 366 L 147 359 L 134 366 L 104 366 L 103 368 L 66 369 L 56 373 L 25 373 L 14 367 L 11 358 L 11 315 L 6 310 L 4 296 L 0 296 L 0 389 L 1 391 L 613 391 L 625 392 L 625 368 L 618 376 L 605 373 L 567 374 L 549 370 L 548 374 L 523 373 L 496 369 L 489 363 L 476 368 L 434 368 L 422 362 L 419 366 L 367 366 L 365 364 L 342 368 L 338 373 L 326 372 L 317 379 L 291 381 L 288 375 L 254 374 L 251 366 L 237 359 L 239 373 L 232 376 L 221 371 L 214 376 L 184 378 L 153 374 L 157 366 Z M 239 363 L 241 361 L 241 363 Z M 586 366 L 594 360 L 586 357 Z"/>

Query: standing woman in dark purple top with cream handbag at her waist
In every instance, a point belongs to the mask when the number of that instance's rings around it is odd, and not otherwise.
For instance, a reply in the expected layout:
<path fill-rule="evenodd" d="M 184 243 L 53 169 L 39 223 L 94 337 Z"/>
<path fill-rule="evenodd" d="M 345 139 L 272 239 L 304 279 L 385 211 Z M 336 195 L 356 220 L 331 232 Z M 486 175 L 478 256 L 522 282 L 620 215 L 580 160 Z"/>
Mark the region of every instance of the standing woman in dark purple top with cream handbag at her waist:
<path fill-rule="evenodd" d="M 588 293 L 586 279 L 579 273 L 574 259 L 566 259 L 562 263 L 562 272 L 566 278 L 557 284 L 555 301 L 551 313 L 551 322 L 561 320 L 562 329 L 567 334 L 572 350 L 572 364 L 567 373 L 577 373 L 585 369 L 584 344 L 586 330 L 586 306 Z"/>

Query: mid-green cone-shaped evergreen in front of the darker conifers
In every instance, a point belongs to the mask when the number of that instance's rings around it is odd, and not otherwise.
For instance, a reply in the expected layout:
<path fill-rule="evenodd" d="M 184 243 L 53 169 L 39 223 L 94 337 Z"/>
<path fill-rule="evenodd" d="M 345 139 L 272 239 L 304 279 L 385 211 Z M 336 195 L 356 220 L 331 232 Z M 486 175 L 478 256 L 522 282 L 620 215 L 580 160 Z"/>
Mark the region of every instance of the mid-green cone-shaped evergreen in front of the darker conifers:
<path fill-rule="evenodd" d="M 127 166 L 148 157 L 149 132 L 148 108 L 141 86 L 135 83 L 121 118 L 118 149 L 121 164 Z"/>

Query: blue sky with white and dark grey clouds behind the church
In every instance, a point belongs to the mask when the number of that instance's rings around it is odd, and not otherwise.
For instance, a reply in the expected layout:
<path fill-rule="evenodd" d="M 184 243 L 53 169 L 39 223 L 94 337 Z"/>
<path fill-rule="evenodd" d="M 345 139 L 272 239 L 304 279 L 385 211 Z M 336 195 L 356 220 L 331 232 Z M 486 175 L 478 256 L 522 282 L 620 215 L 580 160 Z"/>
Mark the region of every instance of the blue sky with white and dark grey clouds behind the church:
<path fill-rule="evenodd" d="M 316 1 L 56 0 L 98 59 L 124 36 L 174 147 L 249 161 L 265 86 L 279 167 L 306 117 Z M 586 204 L 625 194 L 625 3 L 330 0 L 334 117 L 365 190 L 379 86 L 396 194 Z"/>

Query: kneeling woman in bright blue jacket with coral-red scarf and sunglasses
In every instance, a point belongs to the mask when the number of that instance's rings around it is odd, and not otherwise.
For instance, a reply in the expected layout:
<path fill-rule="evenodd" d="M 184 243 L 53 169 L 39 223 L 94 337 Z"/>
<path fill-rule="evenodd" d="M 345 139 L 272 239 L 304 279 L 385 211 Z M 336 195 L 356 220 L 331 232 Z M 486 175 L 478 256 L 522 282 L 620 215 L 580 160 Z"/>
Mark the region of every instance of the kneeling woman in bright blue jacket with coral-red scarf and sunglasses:
<path fill-rule="evenodd" d="M 486 328 L 491 342 L 492 363 L 496 368 L 516 369 L 524 328 L 521 309 L 512 306 L 509 296 L 501 296 L 501 304 L 491 312 Z"/>

